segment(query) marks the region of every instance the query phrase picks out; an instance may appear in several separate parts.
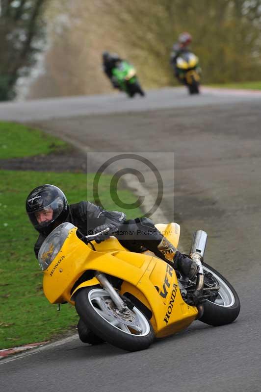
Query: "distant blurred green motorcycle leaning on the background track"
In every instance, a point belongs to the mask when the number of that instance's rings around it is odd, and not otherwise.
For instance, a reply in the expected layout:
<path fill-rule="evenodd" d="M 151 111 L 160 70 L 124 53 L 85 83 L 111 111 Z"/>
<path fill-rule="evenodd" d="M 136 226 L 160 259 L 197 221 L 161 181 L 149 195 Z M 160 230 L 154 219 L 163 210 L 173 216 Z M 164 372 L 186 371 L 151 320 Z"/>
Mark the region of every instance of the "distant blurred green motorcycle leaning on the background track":
<path fill-rule="evenodd" d="M 112 75 L 119 90 L 125 91 L 130 98 L 134 97 L 135 94 L 140 94 L 142 97 L 145 96 L 136 76 L 135 68 L 127 61 L 121 61 L 119 65 L 112 70 Z"/>

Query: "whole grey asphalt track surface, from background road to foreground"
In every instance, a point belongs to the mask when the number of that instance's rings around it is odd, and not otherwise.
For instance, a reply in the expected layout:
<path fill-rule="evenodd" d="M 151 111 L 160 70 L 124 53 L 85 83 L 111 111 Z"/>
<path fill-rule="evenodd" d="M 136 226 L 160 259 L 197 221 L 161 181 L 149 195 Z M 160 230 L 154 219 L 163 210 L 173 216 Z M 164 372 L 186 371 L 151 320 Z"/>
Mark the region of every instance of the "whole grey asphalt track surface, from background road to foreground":
<path fill-rule="evenodd" d="M 126 353 L 72 337 L 1 360 L 2 391 L 261 391 L 260 108 L 260 93 L 211 89 L 199 97 L 163 89 L 144 99 L 111 95 L 0 105 L 1 119 L 37 123 L 97 151 L 97 167 L 105 152 L 156 159 L 164 179 L 162 220 L 174 219 L 174 173 L 183 247 L 188 250 L 194 230 L 207 231 L 205 260 L 241 300 L 234 323 L 196 321 L 145 351 Z M 151 177 L 144 186 L 155 192 Z"/>

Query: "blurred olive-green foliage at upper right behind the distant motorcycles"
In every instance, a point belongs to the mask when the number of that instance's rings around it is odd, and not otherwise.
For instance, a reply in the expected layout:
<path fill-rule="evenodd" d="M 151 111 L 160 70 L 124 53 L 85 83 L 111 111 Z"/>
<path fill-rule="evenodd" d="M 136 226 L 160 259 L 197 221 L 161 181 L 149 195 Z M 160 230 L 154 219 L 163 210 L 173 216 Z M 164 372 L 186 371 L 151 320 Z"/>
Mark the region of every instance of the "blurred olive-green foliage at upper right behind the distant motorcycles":
<path fill-rule="evenodd" d="M 150 83 L 171 85 L 173 42 L 193 36 L 204 82 L 260 79 L 261 0 L 104 0 L 125 45 L 139 58 Z"/>

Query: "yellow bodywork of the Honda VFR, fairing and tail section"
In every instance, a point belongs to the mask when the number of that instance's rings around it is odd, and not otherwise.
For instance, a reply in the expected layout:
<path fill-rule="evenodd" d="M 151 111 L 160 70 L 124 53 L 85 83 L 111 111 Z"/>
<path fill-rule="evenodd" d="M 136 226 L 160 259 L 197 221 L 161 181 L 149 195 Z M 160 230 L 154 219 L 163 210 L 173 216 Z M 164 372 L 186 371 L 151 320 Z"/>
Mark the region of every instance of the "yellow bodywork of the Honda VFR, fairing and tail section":
<path fill-rule="evenodd" d="M 180 226 L 176 223 L 157 225 L 177 247 Z M 188 306 L 179 290 L 172 267 L 157 257 L 127 251 L 112 237 L 101 244 L 85 245 L 73 228 L 60 252 L 44 271 L 44 293 L 51 303 L 71 302 L 79 288 L 98 284 L 96 278 L 77 282 L 86 270 L 99 270 L 123 280 L 121 294 L 134 296 L 146 308 L 158 338 L 187 327 L 197 316 L 195 307 Z M 71 293 L 72 288 L 74 291 Z"/>

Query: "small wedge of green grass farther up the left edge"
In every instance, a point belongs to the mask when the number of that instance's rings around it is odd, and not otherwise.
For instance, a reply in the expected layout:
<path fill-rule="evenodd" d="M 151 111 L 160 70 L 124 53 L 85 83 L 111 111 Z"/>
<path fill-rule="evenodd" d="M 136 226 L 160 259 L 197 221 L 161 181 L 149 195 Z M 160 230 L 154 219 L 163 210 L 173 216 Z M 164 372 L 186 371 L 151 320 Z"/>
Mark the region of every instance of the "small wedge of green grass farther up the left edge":
<path fill-rule="evenodd" d="M 49 154 L 66 148 L 68 144 L 38 129 L 0 122 L 0 159 Z"/>

